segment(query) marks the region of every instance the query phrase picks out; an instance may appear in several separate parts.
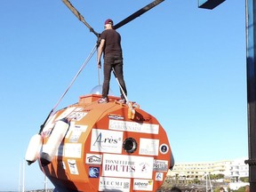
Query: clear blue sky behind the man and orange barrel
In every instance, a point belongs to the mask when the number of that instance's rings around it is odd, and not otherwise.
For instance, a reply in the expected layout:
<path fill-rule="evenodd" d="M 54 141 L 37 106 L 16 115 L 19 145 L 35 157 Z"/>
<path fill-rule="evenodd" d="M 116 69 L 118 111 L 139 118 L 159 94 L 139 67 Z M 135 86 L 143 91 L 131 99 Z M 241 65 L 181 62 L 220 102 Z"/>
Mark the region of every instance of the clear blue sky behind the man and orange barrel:
<path fill-rule="evenodd" d="M 95 31 L 151 1 L 71 1 Z M 18 189 L 28 141 L 96 43 L 62 1 L 1 1 L 0 191 Z M 244 1 L 214 10 L 197 1 L 164 1 L 118 29 L 124 80 L 136 101 L 162 124 L 177 163 L 247 157 Z M 102 79 L 102 76 L 101 76 Z M 96 55 L 58 108 L 98 84 Z M 116 79 L 111 89 L 119 95 Z M 38 164 L 26 166 L 26 189 L 44 188 Z"/>

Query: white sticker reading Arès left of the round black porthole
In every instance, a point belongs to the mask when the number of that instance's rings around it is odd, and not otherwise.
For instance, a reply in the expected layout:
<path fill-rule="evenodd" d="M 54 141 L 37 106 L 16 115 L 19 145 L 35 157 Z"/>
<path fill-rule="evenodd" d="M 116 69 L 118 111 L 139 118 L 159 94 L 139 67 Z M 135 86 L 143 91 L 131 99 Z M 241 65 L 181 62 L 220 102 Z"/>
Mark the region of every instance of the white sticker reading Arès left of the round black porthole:
<path fill-rule="evenodd" d="M 120 154 L 122 146 L 123 132 L 92 129 L 91 151 Z"/>

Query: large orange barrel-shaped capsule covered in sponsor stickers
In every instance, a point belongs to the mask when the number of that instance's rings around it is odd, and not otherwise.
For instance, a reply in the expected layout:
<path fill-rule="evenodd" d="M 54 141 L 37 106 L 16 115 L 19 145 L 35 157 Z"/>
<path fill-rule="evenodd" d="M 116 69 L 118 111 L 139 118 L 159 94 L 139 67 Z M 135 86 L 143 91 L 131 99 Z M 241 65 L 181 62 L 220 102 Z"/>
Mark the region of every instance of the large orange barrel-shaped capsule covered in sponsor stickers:
<path fill-rule="evenodd" d="M 102 104 L 99 99 L 81 96 L 55 113 L 44 127 L 44 145 L 55 122 L 67 118 L 70 126 L 42 171 L 58 191 L 156 191 L 174 164 L 164 128 L 134 102 L 131 116 L 120 98 L 109 96 Z"/>

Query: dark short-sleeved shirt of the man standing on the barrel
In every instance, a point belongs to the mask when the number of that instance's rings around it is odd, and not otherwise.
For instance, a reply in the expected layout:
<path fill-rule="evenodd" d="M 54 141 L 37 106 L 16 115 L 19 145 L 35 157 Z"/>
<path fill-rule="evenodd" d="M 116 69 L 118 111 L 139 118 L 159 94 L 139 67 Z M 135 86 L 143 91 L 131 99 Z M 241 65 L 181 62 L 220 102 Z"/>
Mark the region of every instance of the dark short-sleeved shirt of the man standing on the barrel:
<path fill-rule="evenodd" d="M 122 55 L 121 48 L 121 36 L 114 29 L 104 30 L 101 35 L 101 39 L 105 39 L 104 56 L 109 55 Z"/>

